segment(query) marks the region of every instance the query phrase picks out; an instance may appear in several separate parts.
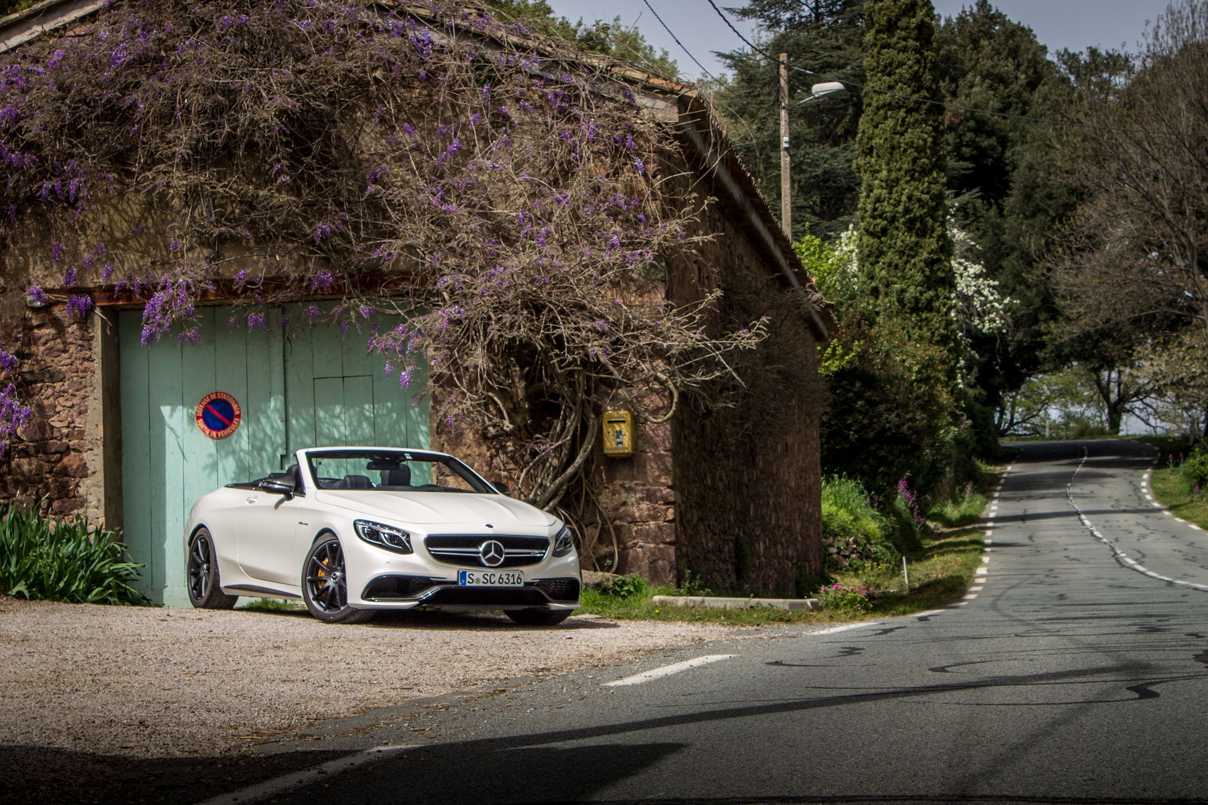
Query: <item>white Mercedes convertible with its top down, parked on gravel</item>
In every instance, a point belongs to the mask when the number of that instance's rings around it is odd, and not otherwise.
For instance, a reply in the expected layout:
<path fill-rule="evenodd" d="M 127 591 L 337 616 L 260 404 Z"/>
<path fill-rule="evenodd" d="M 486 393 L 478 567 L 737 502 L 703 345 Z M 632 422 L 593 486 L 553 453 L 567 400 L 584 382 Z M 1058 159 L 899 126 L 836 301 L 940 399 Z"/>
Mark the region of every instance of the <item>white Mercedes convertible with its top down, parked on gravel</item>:
<path fill-rule="evenodd" d="M 188 597 L 210 609 L 240 595 L 302 599 L 329 623 L 413 607 L 562 623 L 581 583 L 570 530 L 506 492 L 443 453 L 298 450 L 284 473 L 193 504 Z"/>

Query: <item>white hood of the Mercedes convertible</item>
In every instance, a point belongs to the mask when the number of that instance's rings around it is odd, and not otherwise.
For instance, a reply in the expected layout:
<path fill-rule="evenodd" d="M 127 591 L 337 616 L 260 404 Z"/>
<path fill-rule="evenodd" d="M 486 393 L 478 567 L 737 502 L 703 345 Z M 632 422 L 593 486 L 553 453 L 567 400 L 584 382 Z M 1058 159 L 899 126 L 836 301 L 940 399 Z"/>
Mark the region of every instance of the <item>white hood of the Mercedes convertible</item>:
<path fill-rule="evenodd" d="M 402 523 L 482 527 L 550 527 L 557 520 L 548 512 L 504 495 L 470 492 L 385 492 L 377 490 L 316 490 L 315 500 L 355 512 Z"/>

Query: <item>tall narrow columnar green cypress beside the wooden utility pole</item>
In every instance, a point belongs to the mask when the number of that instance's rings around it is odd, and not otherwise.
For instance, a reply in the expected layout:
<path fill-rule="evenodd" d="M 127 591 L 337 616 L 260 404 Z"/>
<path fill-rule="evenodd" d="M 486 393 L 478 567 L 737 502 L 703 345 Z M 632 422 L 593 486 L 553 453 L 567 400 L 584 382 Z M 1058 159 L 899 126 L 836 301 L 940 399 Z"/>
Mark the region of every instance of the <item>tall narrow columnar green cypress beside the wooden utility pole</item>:
<path fill-rule="evenodd" d="M 930 0 L 867 0 L 860 175 L 860 282 L 882 325 L 934 348 L 927 373 L 956 378 L 952 244 Z M 872 89 L 876 88 L 876 89 Z M 877 92 L 883 91 L 883 92 Z"/>

